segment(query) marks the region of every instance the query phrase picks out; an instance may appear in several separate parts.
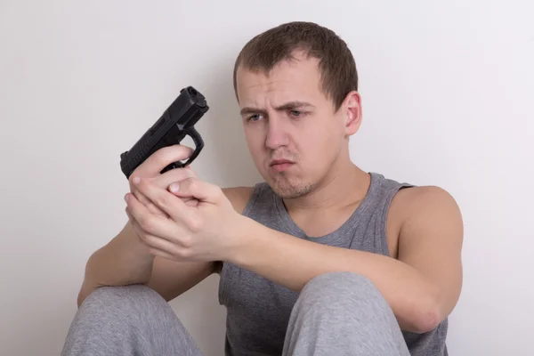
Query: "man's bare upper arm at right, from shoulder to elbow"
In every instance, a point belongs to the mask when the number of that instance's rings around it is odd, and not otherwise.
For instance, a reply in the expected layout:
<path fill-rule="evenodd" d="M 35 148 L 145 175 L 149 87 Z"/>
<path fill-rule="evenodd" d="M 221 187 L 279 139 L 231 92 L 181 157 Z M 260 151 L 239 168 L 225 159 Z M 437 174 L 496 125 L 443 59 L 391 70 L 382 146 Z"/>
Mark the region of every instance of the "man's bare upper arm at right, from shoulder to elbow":
<path fill-rule="evenodd" d="M 462 289 L 462 215 L 444 190 L 420 187 L 412 193 L 399 235 L 398 259 L 433 284 L 432 303 L 441 321 L 456 306 Z"/>

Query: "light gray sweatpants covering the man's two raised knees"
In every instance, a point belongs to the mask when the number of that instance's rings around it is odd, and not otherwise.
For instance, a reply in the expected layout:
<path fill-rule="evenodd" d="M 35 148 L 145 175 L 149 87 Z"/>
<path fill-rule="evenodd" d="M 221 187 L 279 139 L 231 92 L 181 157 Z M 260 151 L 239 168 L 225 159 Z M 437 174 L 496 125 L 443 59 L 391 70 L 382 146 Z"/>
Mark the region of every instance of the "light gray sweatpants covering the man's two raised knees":
<path fill-rule="evenodd" d="M 61 354 L 201 356 L 170 305 L 140 285 L 93 291 L 80 306 Z M 409 356 L 409 351 L 376 287 L 360 275 L 335 272 L 303 288 L 283 355 Z"/>

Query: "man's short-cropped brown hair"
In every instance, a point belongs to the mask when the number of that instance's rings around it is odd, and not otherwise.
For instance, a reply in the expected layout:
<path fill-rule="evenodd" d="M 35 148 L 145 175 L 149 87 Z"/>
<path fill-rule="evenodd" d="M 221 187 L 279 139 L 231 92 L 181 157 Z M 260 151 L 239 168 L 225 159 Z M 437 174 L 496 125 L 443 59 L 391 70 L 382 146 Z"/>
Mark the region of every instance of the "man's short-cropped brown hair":
<path fill-rule="evenodd" d="M 323 92 L 333 101 L 336 110 L 349 92 L 358 90 L 356 63 L 344 40 L 331 29 L 316 23 L 294 21 L 268 29 L 245 44 L 234 65 L 236 97 L 239 66 L 268 74 L 279 61 L 293 60 L 297 50 L 320 61 Z"/>

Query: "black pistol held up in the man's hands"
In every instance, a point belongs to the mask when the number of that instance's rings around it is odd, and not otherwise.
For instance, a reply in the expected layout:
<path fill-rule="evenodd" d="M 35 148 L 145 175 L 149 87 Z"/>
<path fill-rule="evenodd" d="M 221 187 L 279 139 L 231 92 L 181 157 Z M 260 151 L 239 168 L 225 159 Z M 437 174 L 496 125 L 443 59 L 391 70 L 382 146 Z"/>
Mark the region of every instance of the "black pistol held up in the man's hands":
<path fill-rule="evenodd" d="M 195 130 L 195 124 L 209 109 L 204 95 L 192 86 L 183 88 L 180 95 L 165 110 L 163 115 L 150 129 L 135 142 L 132 149 L 120 155 L 120 167 L 126 178 L 130 177 L 145 159 L 155 151 L 182 142 L 189 135 L 195 143 L 195 150 L 186 162 L 174 162 L 166 166 L 160 173 L 174 168 L 188 166 L 198 157 L 200 150 L 204 148 L 202 137 Z"/>

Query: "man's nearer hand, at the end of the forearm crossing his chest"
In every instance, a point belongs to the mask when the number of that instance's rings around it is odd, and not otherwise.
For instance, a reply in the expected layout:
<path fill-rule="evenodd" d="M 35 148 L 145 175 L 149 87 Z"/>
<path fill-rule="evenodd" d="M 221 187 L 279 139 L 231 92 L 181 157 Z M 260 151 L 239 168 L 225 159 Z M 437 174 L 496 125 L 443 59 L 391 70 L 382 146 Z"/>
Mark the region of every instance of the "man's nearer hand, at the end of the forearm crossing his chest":
<path fill-rule="evenodd" d="M 168 189 L 160 182 L 133 174 L 134 191 L 139 194 L 125 197 L 131 222 L 150 253 L 175 261 L 228 260 L 242 236 L 243 218 L 223 190 L 196 177 L 174 181 Z M 184 198 L 198 203 L 188 205 Z"/>

